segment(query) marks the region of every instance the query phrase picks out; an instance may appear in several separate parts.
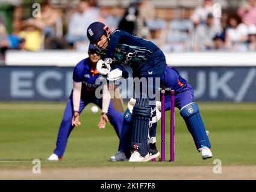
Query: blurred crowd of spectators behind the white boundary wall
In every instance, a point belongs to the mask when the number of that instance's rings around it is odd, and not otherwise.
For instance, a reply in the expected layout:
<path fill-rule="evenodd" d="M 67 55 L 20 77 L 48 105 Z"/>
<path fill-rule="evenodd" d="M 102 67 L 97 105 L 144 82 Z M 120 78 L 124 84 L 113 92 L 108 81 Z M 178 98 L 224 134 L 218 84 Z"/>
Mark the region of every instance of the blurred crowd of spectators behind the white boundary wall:
<path fill-rule="evenodd" d="M 73 49 L 86 51 L 86 29 L 100 21 L 113 31 L 123 29 L 153 41 L 164 52 L 255 51 L 256 0 L 248 0 L 232 13 L 214 17 L 213 1 L 204 0 L 189 19 L 164 20 L 155 16 L 152 1 L 133 0 L 119 16 L 111 16 L 96 0 L 71 1 L 66 8 L 55 8 L 43 1 L 40 17 L 23 18 L 21 6 L 14 7 L 12 30 L 7 32 L 0 14 L 0 59 L 8 49 Z"/>

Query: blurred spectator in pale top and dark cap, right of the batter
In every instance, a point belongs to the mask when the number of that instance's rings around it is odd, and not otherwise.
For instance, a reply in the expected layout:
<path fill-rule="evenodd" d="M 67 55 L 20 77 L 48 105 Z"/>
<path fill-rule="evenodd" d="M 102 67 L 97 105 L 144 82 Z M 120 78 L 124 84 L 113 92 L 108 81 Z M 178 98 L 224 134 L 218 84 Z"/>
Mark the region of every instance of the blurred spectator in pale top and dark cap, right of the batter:
<path fill-rule="evenodd" d="M 214 46 L 213 38 L 221 28 L 213 25 L 213 14 L 209 13 L 205 23 L 201 23 L 195 29 L 195 51 L 212 49 Z"/>

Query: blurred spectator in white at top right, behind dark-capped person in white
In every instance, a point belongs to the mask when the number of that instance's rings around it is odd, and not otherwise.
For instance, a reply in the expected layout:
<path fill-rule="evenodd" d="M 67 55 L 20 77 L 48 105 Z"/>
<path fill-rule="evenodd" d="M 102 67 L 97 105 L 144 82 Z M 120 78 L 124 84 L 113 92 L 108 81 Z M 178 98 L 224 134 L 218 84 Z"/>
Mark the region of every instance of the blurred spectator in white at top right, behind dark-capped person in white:
<path fill-rule="evenodd" d="M 190 19 L 192 20 L 194 25 L 198 26 L 200 23 L 205 22 L 205 20 L 207 19 L 207 15 L 209 13 L 213 14 L 213 1 L 204 0 L 204 3 L 202 6 L 196 7 L 192 16 L 190 16 Z M 214 20 L 213 25 L 215 25 L 217 28 L 220 28 L 220 19 L 214 18 L 213 20 Z"/>

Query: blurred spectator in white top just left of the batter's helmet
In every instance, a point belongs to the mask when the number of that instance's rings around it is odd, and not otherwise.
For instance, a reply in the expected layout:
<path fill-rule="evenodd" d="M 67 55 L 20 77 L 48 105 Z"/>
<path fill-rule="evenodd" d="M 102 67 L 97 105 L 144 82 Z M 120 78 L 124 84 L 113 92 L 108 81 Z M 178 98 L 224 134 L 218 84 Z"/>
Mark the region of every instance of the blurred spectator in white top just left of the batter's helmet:
<path fill-rule="evenodd" d="M 76 42 L 88 41 L 86 30 L 90 23 L 96 22 L 99 16 L 99 9 L 92 7 L 87 1 L 81 1 L 78 9 L 69 22 L 67 29 L 67 42 L 73 46 Z"/>

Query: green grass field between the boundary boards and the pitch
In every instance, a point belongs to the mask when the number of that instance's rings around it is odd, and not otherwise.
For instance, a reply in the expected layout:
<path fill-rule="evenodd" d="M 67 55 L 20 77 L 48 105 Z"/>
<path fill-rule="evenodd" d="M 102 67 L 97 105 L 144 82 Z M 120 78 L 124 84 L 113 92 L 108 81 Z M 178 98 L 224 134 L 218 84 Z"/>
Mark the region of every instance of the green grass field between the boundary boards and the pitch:
<path fill-rule="evenodd" d="M 90 112 L 92 105 L 82 113 L 82 125 L 73 130 L 64 160 L 45 161 L 55 147 L 64 107 L 64 103 L 0 103 L 0 168 L 28 167 L 35 158 L 42 159 L 45 167 L 135 166 L 134 163 L 108 161 L 117 151 L 118 139 L 110 124 L 99 130 L 100 113 Z M 223 165 L 256 164 L 256 103 L 199 103 L 199 107 L 206 130 L 210 131 L 214 158 L 202 161 L 176 110 L 175 163 L 139 165 L 213 165 L 216 158 Z M 160 124 L 157 132 L 160 149 Z M 166 121 L 166 140 L 169 146 L 169 121 Z M 169 152 L 168 147 L 166 151 Z M 166 156 L 169 158 L 169 154 Z"/>

